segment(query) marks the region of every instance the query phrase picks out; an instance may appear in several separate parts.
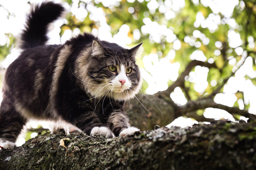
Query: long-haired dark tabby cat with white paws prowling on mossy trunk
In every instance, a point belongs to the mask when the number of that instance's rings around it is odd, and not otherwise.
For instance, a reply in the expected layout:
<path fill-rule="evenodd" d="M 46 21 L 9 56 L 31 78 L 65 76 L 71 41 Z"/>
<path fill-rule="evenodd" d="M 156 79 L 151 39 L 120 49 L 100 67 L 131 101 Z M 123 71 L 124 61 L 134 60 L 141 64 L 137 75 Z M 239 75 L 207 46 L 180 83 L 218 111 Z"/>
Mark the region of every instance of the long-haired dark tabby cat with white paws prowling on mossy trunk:
<path fill-rule="evenodd" d="M 64 12 L 43 2 L 28 15 L 23 52 L 7 68 L 0 107 L 0 146 L 13 149 L 30 119 L 64 122 L 86 134 L 113 138 L 131 127 L 124 102 L 139 92 L 142 77 L 135 56 L 142 43 L 125 49 L 90 33 L 64 44 L 45 45 L 48 24 Z"/>

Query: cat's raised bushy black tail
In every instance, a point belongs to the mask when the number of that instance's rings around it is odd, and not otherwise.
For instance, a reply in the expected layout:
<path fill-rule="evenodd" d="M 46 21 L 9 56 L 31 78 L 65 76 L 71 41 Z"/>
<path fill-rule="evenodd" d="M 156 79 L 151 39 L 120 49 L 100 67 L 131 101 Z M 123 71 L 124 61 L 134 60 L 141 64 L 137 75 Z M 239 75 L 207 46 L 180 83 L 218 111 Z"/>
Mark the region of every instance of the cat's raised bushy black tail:
<path fill-rule="evenodd" d="M 44 45 L 48 40 L 46 36 L 48 24 L 61 16 L 64 7 L 53 2 L 43 2 L 31 10 L 26 26 L 21 34 L 20 48 L 33 48 Z"/>

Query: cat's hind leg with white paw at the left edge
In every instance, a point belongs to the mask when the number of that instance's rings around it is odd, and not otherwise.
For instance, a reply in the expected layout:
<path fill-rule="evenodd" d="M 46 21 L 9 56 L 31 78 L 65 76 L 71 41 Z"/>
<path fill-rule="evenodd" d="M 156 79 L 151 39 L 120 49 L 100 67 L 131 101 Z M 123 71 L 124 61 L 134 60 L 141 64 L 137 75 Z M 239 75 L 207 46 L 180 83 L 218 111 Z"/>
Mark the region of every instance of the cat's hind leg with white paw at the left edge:
<path fill-rule="evenodd" d="M 26 122 L 27 120 L 15 110 L 13 101 L 4 97 L 0 107 L 0 146 L 13 149 Z"/>

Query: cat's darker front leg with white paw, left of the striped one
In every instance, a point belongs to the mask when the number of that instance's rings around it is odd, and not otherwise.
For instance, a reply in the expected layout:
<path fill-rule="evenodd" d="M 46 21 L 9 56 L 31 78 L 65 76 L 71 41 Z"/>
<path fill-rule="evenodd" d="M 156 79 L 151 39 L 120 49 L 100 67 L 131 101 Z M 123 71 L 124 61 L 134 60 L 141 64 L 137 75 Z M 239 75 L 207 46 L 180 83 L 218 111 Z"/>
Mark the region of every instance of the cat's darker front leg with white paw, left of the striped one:
<path fill-rule="evenodd" d="M 73 125 L 83 130 L 87 135 L 104 136 L 106 138 L 113 138 L 114 134 L 108 127 L 101 123 L 98 115 L 93 112 L 86 112 L 73 118 Z"/>

